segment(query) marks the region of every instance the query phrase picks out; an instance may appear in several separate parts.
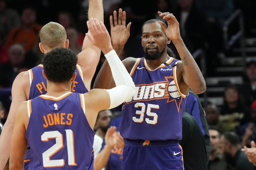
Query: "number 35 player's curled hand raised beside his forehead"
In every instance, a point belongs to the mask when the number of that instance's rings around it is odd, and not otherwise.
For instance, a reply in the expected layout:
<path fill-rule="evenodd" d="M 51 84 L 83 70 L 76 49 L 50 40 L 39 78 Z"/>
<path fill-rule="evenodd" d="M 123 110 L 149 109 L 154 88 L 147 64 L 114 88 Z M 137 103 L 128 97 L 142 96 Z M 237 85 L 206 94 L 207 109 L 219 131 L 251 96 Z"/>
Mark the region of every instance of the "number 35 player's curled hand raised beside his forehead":
<path fill-rule="evenodd" d="M 180 24 L 178 23 L 177 19 L 173 14 L 170 14 L 169 12 L 157 12 L 160 17 L 163 17 L 163 20 L 166 20 L 168 27 L 164 25 L 163 22 L 158 21 L 158 23 L 163 27 L 167 37 L 172 40 L 180 40 Z"/>

